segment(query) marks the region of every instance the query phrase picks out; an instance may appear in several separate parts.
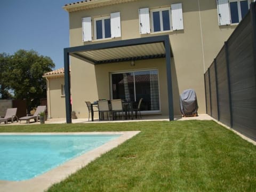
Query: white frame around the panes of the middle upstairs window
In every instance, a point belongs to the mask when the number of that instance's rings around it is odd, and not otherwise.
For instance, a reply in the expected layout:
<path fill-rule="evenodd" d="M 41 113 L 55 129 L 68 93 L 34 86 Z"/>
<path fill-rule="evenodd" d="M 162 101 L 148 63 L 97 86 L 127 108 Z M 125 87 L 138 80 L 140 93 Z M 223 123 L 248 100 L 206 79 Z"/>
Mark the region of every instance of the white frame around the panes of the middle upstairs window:
<path fill-rule="evenodd" d="M 170 30 L 163 30 L 164 25 L 163 25 L 163 11 L 169 11 L 169 24 L 170 24 Z M 172 12 L 171 12 L 171 7 L 165 7 L 165 8 L 160 8 L 160 9 L 150 9 L 150 25 L 151 25 L 151 33 L 165 33 L 167 31 L 172 31 Z M 155 31 L 154 29 L 154 18 L 153 18 L 153 13 L 154 12 L 159 12 L 159 17 L 160 17 L 160 31 Z"/>

